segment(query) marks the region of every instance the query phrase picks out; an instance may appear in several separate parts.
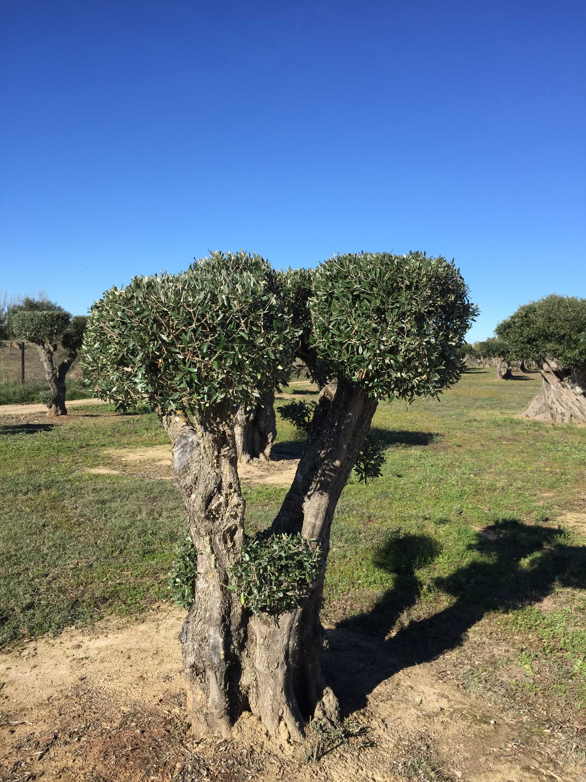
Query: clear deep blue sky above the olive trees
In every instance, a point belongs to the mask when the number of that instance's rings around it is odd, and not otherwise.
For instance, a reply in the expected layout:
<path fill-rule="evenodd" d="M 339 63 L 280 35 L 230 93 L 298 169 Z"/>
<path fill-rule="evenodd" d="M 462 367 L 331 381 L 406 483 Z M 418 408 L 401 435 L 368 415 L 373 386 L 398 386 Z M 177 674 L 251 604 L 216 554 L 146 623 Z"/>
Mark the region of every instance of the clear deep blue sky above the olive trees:
<path fill-rule="evenodd" d="M 244 247 L 455 258 L 484 339 L 586 296 L 586 5 L 5 0 L 0 289 Z"/>

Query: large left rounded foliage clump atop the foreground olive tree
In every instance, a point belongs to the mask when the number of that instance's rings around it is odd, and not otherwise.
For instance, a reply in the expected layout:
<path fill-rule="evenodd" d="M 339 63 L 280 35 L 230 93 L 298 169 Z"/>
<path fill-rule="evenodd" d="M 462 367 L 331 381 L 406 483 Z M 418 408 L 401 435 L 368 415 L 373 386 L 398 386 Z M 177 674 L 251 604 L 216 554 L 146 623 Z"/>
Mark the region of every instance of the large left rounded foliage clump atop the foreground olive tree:
<path fill-rule="evenodd" d="M 103 398 L 163 414 L 235 411 L 286 382 L 291 325 L 260 256 L 214 253 L 188 271 L 134 277 L 91 307 L 83 365 Z"/>

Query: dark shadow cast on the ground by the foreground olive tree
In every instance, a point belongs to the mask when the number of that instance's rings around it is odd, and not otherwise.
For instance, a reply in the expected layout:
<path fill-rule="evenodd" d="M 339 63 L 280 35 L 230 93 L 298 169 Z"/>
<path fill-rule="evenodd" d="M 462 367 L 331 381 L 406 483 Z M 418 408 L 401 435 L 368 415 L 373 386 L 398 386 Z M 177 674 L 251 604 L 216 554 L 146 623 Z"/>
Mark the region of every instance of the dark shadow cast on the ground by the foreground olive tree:
<path fill-rule="evenodd" d="M 377 551 L 374 562 L 395 573 L 394 586 L 370 612 L 338 622 L 327 632 L 323 669 L 346 712 L 366 706 L 373 689 L 399 670 L 458 647 L 487 612 L 541 601 L 557 586 L 586 587 L 586 547 L 567 546 L 559 529 L 504 519 L 477 533 L 470 549 L 483 559 L 435 580 L 455 602 L 427 619 L 409 622 L 387 640 L 382 639 L 398 617 L 420 597 L 417 569 L 440 551 L 428 536 L 399 534 Z"/>

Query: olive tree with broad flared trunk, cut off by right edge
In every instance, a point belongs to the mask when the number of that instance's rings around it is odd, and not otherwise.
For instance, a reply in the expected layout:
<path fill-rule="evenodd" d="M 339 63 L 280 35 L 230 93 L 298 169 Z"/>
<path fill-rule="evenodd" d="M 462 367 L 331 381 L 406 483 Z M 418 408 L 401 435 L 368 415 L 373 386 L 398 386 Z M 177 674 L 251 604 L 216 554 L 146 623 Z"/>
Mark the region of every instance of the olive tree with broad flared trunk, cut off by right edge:
<path fill-rule="evenodd" d="M 552 293 L 523 304 L 495 332 L 516 356 L 535 361 L 543 378 L 521 415 L 586 423 L 586 299 Z"/>

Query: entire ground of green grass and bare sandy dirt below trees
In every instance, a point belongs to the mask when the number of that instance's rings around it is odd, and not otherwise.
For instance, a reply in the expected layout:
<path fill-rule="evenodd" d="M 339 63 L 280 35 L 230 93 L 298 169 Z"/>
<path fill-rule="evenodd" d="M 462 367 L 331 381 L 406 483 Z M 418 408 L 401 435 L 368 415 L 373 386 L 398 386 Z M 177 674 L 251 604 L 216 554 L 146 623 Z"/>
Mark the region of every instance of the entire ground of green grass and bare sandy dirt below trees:
<path fill-rule="evenodd" d="M 187 734 L 167 589 L 186 524 L 155 416 L 0 417 L 0 779 L 580 780 L 586 429 L 517 418 L 539 382 L 470 371 L 441 404 L 379 407 L 383 475 L 341 495 L 322 612 L 347 721 L 297 747 L 252 718 Z M 277 429 L 277 461 L 239 468 L 248 533 L 303 447 Z"/>

